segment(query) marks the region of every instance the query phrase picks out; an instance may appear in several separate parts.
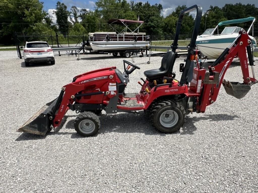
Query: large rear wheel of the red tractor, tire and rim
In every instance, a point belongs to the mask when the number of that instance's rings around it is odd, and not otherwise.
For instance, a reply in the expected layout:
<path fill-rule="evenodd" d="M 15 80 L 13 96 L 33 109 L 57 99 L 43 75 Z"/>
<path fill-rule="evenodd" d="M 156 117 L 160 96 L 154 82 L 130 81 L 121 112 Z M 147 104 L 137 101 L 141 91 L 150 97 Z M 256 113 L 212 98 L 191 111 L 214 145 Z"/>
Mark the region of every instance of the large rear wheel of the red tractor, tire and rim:
<path fill-rule="evenodd" d="M 151 124 L 164 133 L 178 131 L 184 124 L 186 111 L 173 100 L 161 100 L 150 111 Z"/>

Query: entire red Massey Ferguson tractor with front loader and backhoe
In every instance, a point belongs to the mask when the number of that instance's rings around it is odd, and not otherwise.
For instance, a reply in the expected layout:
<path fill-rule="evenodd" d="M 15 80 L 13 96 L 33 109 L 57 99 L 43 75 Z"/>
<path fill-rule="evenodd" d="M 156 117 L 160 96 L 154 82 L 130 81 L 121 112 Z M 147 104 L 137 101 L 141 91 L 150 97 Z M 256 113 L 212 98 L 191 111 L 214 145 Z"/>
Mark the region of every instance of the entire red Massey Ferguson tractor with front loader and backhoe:
<path fill-rule="evenodd" d="M 186 64 L 180 65 L 183 72 L 180 81 L 175 80 L 173 66 L 177 54 L 178 37 L 183 16 L 197 11 L 195 26 L 188 46 Z M 255 79 L 251 39 L 246 31 L 240 31 L 239 36 L 231 46 L 223 51 L 221 56 L 208 67 L 208 71 L 197 65 L 194 67 L 198 50 L 195 42 L 202 14 L 201 6 L 194 5 L 180 13 L 172 51 L 168 51 L 158 69 L 144 72 L 146 80 L 142 80 L 139 93 L 125 93 L 129 75 L 138 66 L 124 60 L 124 72 L 115 66 L 86 72 L 73 78 L 73 81 L 62 87 L 57 99 L 47 103 L 34 117 L 18 129 L 27 133 L 45 135 L 47 131 L 60 125 L 66 112 L 75 110 L 80 113 L 75 119 L 75 130 L 83 136 L 95 135 L 100 128 L 97 116 L 102 110 L 107 114 L 144 110 L 150 115 L 151 123 L 162 132 L 174 132 L 183 125 L 185 117 L 190 112 L 205 112 L 206 106 L 214 103 L 223 84 L 226 92 L 236 98 L 244 97 Z M 243 83 L 226 82 L 224 74 L 235 57 L 239 57 L 243 73 Z M 249 76 L 251 66 L 253 77 Z"/>

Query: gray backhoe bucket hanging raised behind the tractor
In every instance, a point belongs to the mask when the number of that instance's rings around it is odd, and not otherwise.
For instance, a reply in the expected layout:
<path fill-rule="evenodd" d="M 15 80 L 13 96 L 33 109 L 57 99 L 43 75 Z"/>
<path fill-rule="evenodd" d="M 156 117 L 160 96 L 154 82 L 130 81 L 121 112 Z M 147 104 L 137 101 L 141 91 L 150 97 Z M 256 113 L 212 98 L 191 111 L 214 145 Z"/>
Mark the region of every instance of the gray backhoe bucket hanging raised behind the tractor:
<path fill-rule="evenodd" d="M 237 99 L 243 98 L 251 89 L 251 87 L 246 84 L 239 82 L 229 82 L 225 79 L 222 81 L 222 84 L 226 92 L 229 95 L 236 97 Z"/>

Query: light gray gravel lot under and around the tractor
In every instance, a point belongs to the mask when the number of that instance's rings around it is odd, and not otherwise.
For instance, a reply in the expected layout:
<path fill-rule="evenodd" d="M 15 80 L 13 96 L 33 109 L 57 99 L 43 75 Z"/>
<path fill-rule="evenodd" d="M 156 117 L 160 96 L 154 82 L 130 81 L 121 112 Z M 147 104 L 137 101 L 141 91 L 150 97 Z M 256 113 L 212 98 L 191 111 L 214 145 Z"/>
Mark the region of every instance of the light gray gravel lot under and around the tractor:
<path fill-rule="evenodd" d="M 98 135 L 88 138 L 74 130 L 73 111 L 46 136 L 15 131 L 75 75 L 123 69 L 123 59 L 57 56 L 55 65 L 25 67 L 16 51 L 0 52 L 0 192 L 258 192 L 258 85 L 243 99 L 222 87 L 205 113 L 188 115 L 174 134 L 152 128 L 142 111 L 102 114 Z M 161 59 L 148 65 L 139 64 L 148 58 L 136 58 L 141 69 L 131 74 L 126 92 L 138 92 L 143 72 Z M 180 63 L 174 65 L 178 79 Z M 234 63 L 225 79 L 241 77 Z"/>

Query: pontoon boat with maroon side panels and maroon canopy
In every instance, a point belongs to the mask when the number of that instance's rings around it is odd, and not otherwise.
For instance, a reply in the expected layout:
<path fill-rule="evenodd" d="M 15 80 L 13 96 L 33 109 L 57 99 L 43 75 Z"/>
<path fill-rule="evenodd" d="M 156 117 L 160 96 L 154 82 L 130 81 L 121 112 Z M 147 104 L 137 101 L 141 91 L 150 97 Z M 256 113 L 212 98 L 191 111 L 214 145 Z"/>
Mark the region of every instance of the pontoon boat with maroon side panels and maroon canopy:
<path fill-rule="evenodd" d="M 138 23 L 139 26 L 135 30 L 131 30 L 128 25 Z M 108 24 L 114 32 L 94 32 L 89 33 L 89 44 L 94 51 L 117 51 L 124 53 L 130 50 L 149 49 L 149 36 L 146 33 L 140 33 L 139 27 L 143 21 L 133 21 L 124 19 L 111 19 Z M 117 31 L 113 24 L 124 25 L 122 31 Z"/>

